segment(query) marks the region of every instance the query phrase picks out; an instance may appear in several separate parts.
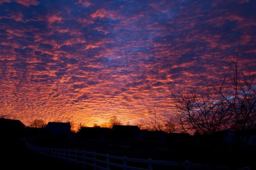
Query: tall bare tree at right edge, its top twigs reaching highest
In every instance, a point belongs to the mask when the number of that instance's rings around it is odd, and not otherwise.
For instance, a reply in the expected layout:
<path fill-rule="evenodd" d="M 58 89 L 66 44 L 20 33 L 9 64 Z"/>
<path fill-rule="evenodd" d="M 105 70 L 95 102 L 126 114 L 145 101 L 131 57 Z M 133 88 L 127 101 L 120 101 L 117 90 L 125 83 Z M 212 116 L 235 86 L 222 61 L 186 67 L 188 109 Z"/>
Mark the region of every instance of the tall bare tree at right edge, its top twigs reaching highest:
<path fill-rule="evenodd" d="M 239 56 L 239 52 L 238 52 Z M 238 70 L 238 58 L 230 64 L 232 88 L 225 86 L 227 76 L 219 87 L 213 86 L 220 98 L 228 104 L 232 117 L 231 129 L 245 130 L 256 128 L 256 86 L 254 75 L 248 69 L 248 75 Z"/>

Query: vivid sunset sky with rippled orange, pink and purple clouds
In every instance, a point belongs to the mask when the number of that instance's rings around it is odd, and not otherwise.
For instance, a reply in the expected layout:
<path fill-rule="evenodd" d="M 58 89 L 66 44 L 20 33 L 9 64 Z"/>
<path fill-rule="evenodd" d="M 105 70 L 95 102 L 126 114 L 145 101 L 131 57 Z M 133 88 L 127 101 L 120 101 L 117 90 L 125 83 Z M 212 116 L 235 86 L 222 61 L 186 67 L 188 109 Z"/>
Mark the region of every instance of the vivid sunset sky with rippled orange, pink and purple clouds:
<path fill-rule="evenodd" d="M 0 0 L 0 114 L 92 126 L 176 113 L 169 87 L 256 75 L 256 2 Z"/>

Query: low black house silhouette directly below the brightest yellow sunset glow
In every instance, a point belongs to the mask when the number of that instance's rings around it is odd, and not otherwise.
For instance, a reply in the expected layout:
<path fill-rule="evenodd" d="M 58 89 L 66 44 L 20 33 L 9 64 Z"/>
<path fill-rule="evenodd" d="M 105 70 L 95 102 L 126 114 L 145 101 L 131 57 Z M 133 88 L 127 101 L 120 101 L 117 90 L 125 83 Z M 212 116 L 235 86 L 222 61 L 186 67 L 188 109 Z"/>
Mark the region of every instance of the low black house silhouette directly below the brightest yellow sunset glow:
<path fill-rule="evenodd" d="M 105 140 L 109 136 L 109 128 L 100 127 L 83 127 L 78 132 L 79 136 L 84 139 Z"/>

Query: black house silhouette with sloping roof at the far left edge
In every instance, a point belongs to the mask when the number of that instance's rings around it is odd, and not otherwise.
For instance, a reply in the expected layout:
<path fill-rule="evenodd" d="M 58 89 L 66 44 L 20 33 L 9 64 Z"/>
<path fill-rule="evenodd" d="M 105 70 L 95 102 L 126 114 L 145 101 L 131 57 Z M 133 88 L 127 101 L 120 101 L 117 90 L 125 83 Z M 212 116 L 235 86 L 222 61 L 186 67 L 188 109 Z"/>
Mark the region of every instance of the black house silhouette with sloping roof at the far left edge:
<path fill-rule="evenodd" d="M 1 137 L 20 137 L 23 135 L 25 125 L 20 120 L 0 118 Z"/>

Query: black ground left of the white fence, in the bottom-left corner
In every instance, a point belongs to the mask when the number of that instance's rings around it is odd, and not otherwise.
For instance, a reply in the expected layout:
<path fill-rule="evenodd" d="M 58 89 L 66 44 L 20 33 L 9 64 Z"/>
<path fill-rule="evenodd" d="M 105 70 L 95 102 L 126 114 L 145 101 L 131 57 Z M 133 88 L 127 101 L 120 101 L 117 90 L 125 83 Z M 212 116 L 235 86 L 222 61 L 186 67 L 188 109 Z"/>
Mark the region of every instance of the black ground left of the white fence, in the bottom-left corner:
<path fill-rule="evenodd" d="M 18 139 L 2 139 L 0 144 L 0 169 L 82 169 L 74 164 L 33 153 Z"/>

